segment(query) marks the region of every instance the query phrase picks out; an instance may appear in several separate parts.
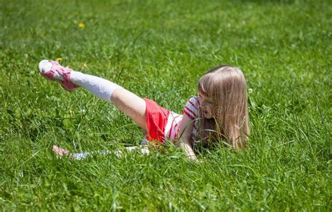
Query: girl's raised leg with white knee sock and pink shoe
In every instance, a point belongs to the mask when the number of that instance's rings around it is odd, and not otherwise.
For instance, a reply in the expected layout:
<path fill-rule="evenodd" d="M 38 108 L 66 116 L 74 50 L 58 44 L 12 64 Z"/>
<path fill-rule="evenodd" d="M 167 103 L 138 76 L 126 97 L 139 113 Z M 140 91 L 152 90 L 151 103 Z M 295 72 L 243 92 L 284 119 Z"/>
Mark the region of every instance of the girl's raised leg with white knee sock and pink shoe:
<path fill-rule="evenodd" d="M 120 111 L 132 118 L 146 134 L 146 103 L 136 94 L 109 80 L 73 71 L 54 61 L 42 60 L 39 63 L 39 71 L 42 76 L 57 81 L 69 92 L 84 87 L 100 99 L 112 102 Z"/>

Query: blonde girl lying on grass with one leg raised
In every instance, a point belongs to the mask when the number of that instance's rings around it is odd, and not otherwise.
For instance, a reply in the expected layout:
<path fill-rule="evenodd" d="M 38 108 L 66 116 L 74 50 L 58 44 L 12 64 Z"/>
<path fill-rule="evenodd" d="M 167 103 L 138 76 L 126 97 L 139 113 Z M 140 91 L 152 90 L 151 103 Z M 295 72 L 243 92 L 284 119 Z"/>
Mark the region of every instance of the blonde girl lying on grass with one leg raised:
<path fill-rule="evenodd" d="M 196 159 L 194 150 L 198 147 L 221 142 L 235 150 L 246 146 L 249 135 L 247 83 L 242 71 L 235 67 L 219 66 L 205 73 L 198 81 L 198 96 L 188 100 L 183 115 L 162 108 L 151 99 L 142 99 L 109 80 L 73 71 L 55 61 L 42 60 L 39 71 L 69 92 L 84 87 L 100 99 L 113 103 L 141 127 L 148 143 L 158 146 L 166 139 L 179 140 L 178 146 L 191 160 Z M 53 150 L 60 156 L 71 155 L 76 159 L 90 154 L 71 154 L 57 146 L 53 146 Z M 140 150 L 148 153 L 146 147 Z"/>

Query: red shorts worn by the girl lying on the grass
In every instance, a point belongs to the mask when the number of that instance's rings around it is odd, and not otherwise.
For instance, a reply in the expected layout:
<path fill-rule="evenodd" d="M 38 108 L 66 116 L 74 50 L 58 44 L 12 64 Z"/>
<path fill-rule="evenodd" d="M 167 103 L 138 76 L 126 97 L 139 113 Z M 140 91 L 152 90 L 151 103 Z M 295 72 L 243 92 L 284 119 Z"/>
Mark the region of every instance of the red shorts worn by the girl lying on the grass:
<path fill-rule="evenodd" d="M 165 127 L 167 124 L 170 111 L 159 106 L 151 99 L 145 99 L 146 103 L 146 124 L 148 133 L 146 139 L 148 141 L 165 142 Z"/>

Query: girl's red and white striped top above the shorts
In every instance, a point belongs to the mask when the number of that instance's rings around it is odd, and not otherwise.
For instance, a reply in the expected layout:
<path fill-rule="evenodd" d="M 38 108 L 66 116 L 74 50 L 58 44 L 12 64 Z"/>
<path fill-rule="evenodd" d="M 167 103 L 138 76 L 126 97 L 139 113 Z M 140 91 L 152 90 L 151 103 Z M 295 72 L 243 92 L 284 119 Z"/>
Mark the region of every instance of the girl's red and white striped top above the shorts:
<path fill-rule="evenodd" d="M 193 132 L 191 133 L 191 139 L 194 141 L 195 136 L 198 133 L 198 108 L 200 100 L 198 97 L 191 97 L 184 107 L 184 114 L 188 115 L 189 118 L 194 120 Z M 174 112 L 170 112 L 167 119 L 167 125 L 165 127 L 165 137 L 169 139 L 177 139 L 179 136 L 179 127 L 183 115 L 179 115 Z"/>

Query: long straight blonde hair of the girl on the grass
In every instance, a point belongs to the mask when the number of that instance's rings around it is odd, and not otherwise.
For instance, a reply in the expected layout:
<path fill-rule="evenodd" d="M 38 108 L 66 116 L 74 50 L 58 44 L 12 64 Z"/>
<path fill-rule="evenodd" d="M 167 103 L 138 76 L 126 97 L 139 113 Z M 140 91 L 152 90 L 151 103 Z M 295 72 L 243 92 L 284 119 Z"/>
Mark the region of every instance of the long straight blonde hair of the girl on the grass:
<path fill-rule="evenodd" d="M 214 100 L 214 118 L 202 117 L 200 141 L 226 141 L 235 149 L 244 148 L 249 135 L 247 83 L 240 69 L 219 66 L 207 72 L 198 82 L 198 91 Z"/>

